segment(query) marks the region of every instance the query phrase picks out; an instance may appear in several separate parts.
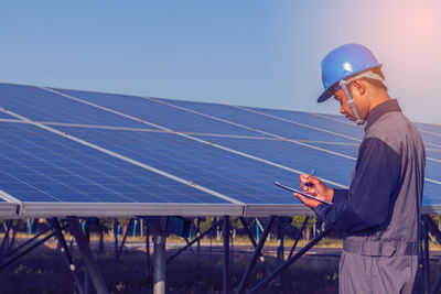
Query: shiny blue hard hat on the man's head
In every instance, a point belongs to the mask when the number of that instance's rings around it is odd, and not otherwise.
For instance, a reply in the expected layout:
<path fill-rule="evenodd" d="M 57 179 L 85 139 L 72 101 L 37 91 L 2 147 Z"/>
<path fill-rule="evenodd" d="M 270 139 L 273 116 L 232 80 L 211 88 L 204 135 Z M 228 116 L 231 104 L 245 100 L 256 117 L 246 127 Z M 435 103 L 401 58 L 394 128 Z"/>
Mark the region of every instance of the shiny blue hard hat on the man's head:
<path fill-rule="evenodd" d="M 323 94 L 318 102 L 327 100 L 338 89 L 338 81 L 381 66 L 374 54 L 363 45 L 345 44 L 336 47 L 322 61 L 322 81 L 324 86 Z"/>

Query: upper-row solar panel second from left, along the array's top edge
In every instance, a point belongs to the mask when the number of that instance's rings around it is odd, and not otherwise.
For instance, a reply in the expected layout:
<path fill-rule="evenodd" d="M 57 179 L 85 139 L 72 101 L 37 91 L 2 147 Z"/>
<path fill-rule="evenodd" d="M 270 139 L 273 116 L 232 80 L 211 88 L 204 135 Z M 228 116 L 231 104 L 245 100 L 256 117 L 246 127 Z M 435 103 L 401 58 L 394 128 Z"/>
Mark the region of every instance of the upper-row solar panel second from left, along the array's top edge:
<path fill-rule="evenodd" d="M 161 127 L 172 129 L 173 131 L 262 135 L 247 129 L 183 111 L 141 97 L 63 89 L 57 90 L 153 122 Z"/>

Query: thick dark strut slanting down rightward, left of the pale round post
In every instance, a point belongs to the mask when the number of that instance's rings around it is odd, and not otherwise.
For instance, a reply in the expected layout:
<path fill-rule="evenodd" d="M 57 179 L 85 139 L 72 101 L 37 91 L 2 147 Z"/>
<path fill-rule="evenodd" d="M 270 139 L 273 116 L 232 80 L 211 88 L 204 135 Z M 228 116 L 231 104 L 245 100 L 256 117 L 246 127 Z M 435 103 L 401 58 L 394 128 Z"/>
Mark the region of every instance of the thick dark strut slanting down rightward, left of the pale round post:
<path fill-rule="evenodd" d="M 67 217 L 67 221 L 69 222 L 71 228 L 74 232 L 79 253 L 82 254 L 83 261 L 87 268 L 87 272 L 90 275 L 96 292 L 108 293 L 103 275 L 98 269 L 94 255 L 92 254 L 89 243 L 87 242 L 87 239 L 79 225 L 78 217 Z"/>

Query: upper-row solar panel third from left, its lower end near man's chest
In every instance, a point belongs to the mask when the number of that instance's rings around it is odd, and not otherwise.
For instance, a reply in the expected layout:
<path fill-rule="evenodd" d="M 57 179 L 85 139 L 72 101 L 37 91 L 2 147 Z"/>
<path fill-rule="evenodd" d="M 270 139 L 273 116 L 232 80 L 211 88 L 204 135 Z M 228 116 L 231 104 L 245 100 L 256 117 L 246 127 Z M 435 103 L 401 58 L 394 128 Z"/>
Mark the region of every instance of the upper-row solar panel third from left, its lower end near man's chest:
<path fill-rule="evenodd" d="M 310 128 L 301 127 L 286 121 L 276 120 L 261 115 L 252 113 L 243 109 L 225 105 L 213 105 L 202 102 L 190 102 L 163 99 L 173 105 L 179 105 L 206 115 L 222 118 L 228 121 L 240 123 L 260 131 L 294 140 L 318 140 L 330 142 L 354 142 L 342 137 L 315 131 Z"/>

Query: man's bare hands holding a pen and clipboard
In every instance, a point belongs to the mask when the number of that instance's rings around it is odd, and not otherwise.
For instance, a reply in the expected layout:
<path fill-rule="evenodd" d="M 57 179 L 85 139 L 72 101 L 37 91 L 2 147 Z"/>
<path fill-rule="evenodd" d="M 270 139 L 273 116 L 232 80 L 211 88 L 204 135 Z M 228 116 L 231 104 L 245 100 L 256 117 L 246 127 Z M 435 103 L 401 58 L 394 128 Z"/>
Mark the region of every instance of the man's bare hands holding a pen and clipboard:
<path fill-rule="evenodd" d="M 327 187 L 318 177 L 309 174 L 301 174 L 299 179 L 300 179 L 300 187 L 305 194 L 314 196 L 316 198 L 320 198 L 329 203 L 332 202 L 332 198 L 334 197 L 334 189 Z M 322 204 L 318 200 L 306 198 L 299 193 L 294 193 L 294 196 L 298 197 L 305 206 L 312 209 L 315 209 L 315 207 Z"/>

